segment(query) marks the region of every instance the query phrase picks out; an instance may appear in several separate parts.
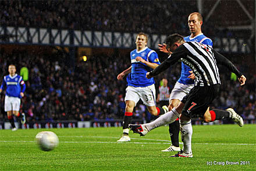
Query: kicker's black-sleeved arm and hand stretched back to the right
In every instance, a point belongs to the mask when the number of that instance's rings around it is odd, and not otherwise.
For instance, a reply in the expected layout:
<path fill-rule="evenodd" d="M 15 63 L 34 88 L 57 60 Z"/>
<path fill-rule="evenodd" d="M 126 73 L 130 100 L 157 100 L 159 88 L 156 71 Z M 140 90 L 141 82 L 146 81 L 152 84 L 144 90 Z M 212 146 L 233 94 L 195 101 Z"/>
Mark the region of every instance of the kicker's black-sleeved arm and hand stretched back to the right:
<path fill-rule="evenodd" d="M 225 56 L 219 54 L 219 52 L 215 51 L 215 49 L 213 49 L 213 52 L 214 52 L 214 56 L 215 56 L 217 64 L 226 66 L 231 72 L 236 74 L 236 76 L 238 77 L 238 80 L 240 82 L 240 85 L 246 84 L 246 77 L 236 68 L 236 66 L 233 65 L 233 63 L 229 59 L 227 59 L 227 58 L 225 58 Z"/>

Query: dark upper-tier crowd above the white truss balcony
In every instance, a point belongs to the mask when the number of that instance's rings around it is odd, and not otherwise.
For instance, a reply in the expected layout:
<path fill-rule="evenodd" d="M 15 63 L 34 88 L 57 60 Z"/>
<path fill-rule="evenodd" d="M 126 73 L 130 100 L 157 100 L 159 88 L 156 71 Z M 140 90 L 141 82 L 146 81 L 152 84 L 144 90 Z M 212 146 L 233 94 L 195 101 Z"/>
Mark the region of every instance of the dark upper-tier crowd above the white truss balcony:
<path fill-rule="evenodd" d="M 196 1 L 0 1 L 0 24 L 187 35 L 187 15 L 195 11 Z M 204 33 L 232 34 L 218 24 L 205 22 Z"/>

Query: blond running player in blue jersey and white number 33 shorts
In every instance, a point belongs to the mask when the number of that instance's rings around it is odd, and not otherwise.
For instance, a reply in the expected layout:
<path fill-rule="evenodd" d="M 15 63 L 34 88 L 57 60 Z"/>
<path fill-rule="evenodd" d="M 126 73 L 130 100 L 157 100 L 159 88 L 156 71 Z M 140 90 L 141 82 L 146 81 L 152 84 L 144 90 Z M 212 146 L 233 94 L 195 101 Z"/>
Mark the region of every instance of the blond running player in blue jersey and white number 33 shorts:
<path fill-rule="evenodd" d="M 128 87 L 125 95 L 125 117 L 123 119 L 123 136 L 118 142 L 130 141 L 128 124 L 133 117 L 133 109 L 141 99 L 147 106 L 151 115 L 157 116 L 168 112 L 168 107 L 158 108 L 155 106 L 155 81 L 147 79 L 146 73 L 155 69 L 159 64 L 158 55 L 148 48 L 148 37 L 145 33 L 139 33 L 136 38 L 136 49 L 131 51 L 131 66 L 118 74 L 118 80 L 123 80 L 126 74 Z"/>

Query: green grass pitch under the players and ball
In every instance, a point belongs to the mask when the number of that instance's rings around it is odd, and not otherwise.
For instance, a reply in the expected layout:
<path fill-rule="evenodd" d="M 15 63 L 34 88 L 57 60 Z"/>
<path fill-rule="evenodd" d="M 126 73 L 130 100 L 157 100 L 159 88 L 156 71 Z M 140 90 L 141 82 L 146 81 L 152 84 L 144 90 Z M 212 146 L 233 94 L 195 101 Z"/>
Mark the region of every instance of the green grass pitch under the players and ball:
<path fill-rule="evenodd" d="M 44 130 L 59 137 L 53 151 L 35 143 Z M 117 143 L 121 135 L 122 127 L 0 130 L 0 170 L 256 170 L 255 124 L 193 126 L 193 158 L 161 152 L 169 147 L 167 126 L 145 137 L 130 131 L 129 143 Z"/>

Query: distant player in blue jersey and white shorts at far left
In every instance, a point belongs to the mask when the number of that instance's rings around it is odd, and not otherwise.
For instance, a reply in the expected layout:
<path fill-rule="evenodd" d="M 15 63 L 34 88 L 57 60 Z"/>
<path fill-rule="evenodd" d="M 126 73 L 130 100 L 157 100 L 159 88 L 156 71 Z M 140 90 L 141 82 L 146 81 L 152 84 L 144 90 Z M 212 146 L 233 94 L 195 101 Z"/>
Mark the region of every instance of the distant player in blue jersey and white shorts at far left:
<path fill-rule="evenodd" d="M 7 112 L 7 116 L 9 122 L 12 126 L 12 130 L 16 131 L 13 115 L 16 117 L 20 117 L 22 124 L 26 122 L 26 116 L 24 113 L 20 115 L 20 98 L 24 97 L 24 91 L 26 90 L 26 84 L 24 83 L 22 76 L 16 74 L 15 65 L 9 65 L 8 67 L 8 76 L 3 77 L 2 85 L 0 87 L 0 93 L 6 87 L 5 94 L 5 112 Z M 22 85 L 22 89 L 20 87 Z"/>

